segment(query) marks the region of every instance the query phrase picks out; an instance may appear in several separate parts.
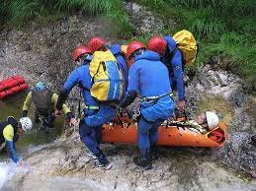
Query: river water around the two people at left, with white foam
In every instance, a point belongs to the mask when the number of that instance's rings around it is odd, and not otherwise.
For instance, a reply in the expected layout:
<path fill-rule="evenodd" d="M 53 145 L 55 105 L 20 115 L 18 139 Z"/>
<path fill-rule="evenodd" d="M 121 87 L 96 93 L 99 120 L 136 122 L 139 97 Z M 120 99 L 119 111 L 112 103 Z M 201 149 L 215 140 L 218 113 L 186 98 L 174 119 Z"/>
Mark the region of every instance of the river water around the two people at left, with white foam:
<path fill-rule="evenodd" d="M 8 116 L 14 116 L 19 119 L 22 113 L 23 101 L 27 94 L 22 93 L 17 96 L 10 96 L 4 100 L 0 100 L 0 121 L 6 120 Z M 34 108 L 32 104 L 28 116 L 34 120 Z M 40 150 L 43 144 L 54 141 L 62 132 L 63 120 L 62 118 L 56 118 L 54 122 L 54 128 L 50 129 L 46 134 L 41 130 L 41 125 L 34 125 L 33 130 L 29 133 L 23 134 L 19 141 L 16 143 L 18 156 L 26 158 L 32 153 Z M 9 180 L 17 170 L 21 170 L 10 161 L 9 156 L 6 153 L 0 153 L 0 188 Z M 24 169 L 23 169 L 24 170 Z"/>

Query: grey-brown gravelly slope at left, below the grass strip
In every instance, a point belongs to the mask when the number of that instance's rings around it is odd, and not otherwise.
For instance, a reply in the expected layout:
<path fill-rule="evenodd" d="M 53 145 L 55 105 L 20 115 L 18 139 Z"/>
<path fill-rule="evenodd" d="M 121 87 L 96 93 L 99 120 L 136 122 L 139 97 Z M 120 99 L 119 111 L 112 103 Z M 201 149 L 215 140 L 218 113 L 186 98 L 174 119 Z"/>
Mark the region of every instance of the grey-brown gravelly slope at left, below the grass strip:
<path fill-rule="evenodd" d="M 9 68 L 3 78 L 20 74 L 30 85 L 43 80 L 50 88 L 59 89 L 74 67 L 73 49 L 102 31 L 95 20 L 81 14 L 70 16 L 67 21 L 49 22 L 43 28 L 34 24 L 28 29 L 0 32 L 1 42 L 5 42 L 0 45 L 0 71 Z"/>

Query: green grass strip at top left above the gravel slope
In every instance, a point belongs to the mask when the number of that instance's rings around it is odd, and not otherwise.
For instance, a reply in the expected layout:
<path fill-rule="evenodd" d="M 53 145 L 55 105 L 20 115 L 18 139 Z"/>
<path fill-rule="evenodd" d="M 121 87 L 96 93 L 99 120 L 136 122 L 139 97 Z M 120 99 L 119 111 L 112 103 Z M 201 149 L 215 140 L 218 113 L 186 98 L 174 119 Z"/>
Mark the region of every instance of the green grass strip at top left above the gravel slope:
<path fill-rule="evenodd" d="M 0 1 L 2 25 L 20 26 L 33 19 L 61 18 L 81 11 L 86 15 L 101 16 L 106 21 L 111 21 L 114 25 L 113 31 L 119 36 L 126 37 L 132 33 L 133 28 L 129 23 L 128 13 L 123 2 L 119 0 Z"/>

